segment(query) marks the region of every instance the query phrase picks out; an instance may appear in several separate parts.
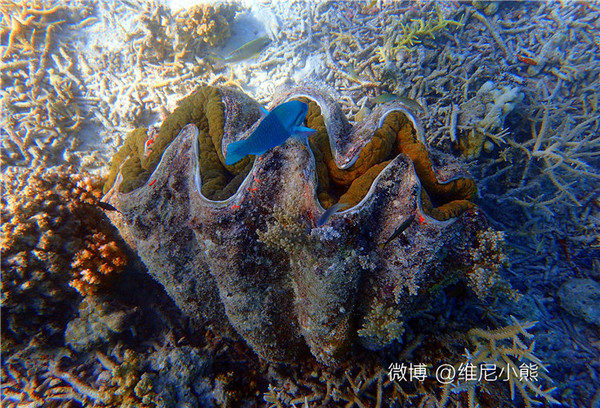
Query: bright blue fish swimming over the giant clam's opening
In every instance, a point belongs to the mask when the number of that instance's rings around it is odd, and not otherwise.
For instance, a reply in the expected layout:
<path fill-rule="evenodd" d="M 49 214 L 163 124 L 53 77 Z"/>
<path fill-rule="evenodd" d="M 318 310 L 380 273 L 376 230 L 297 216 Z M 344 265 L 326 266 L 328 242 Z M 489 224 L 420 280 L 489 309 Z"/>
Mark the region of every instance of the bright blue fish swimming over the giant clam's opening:
<path fill-rule="evenodd" d="M 249 154 L 261 155 L 282 145 L 291 136 L 308 137 L 316 130 L 301 126 L 308 105 L 300 101 L 282 103 L 267 114 L 252 134 L 227 146 L 225 164 L 234 164 Z"/>

